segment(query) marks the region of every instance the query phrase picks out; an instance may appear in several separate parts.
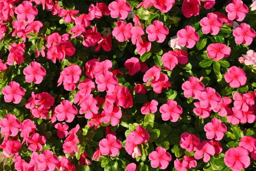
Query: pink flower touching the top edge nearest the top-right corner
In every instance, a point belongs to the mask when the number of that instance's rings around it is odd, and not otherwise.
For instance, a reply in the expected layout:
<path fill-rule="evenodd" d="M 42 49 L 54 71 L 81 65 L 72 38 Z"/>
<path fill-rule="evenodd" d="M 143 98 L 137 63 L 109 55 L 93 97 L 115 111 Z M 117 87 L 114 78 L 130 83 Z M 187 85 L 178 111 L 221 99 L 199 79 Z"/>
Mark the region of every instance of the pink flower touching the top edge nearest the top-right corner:
<path fill-rule="evenodd" d="M 241 0 L 233 0 L 226 6 L 227 17 L 230 20 L 244 20 L 246 14 L 249 12 L 248 7 Z"/>

